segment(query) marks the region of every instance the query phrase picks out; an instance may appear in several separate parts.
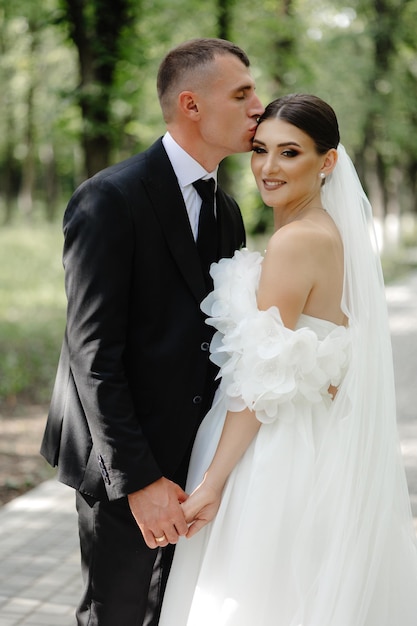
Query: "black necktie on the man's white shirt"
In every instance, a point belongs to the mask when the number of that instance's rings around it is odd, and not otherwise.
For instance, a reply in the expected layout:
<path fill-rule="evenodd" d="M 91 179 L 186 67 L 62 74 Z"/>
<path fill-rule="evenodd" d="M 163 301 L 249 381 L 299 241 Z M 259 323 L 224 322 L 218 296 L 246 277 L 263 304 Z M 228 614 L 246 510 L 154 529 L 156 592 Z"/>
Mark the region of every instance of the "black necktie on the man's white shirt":
<path fill-rule="evenodd" d="M 214 188 L 215 181 L 213 178 L 208 180 L 196 180 L 193 186 L 197 190 L 202 202 L 200 209 L 200 218 L 198 220 L 197 249 L 200 254 L 201 264 L 209 285 L 208 270 L 213 263 L 217 261 L 217 224 L 214 215 Z"/>

